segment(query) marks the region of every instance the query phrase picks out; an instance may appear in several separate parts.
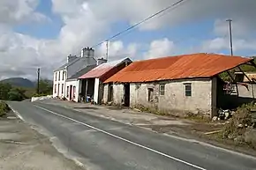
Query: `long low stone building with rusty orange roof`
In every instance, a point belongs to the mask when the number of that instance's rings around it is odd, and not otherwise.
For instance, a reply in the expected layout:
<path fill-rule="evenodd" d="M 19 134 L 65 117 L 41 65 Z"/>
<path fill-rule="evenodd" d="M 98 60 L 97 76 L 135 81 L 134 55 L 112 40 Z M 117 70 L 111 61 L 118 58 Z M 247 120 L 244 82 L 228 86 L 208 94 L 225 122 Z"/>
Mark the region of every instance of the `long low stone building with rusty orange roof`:
<path fill-rule="evenodd" d="M 219 74 L 251 58 L 192 54 L 138 61 L 104 82 L 103 101 L 158 111 L 215 116 L 222 105 Z"/>

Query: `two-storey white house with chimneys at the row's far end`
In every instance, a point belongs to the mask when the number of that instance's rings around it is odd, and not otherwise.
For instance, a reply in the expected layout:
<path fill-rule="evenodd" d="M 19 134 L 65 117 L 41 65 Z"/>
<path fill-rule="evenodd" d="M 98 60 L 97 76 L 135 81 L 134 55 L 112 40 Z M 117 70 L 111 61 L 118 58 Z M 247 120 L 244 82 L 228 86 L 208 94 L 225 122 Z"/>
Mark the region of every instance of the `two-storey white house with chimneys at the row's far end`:
<path fill-rule="evenodd" d="M 96 63 L 94 49 L 92 48 L 83 48 L 81 50 L 81 56 L 69 55 L 67 57 L 67 63 L 54 70 L 53 97 L 66 98 L 66 93 L 70 92 L 70 89 L 67 91 L 66 80 L 88 65 L 95 65 Z"/>

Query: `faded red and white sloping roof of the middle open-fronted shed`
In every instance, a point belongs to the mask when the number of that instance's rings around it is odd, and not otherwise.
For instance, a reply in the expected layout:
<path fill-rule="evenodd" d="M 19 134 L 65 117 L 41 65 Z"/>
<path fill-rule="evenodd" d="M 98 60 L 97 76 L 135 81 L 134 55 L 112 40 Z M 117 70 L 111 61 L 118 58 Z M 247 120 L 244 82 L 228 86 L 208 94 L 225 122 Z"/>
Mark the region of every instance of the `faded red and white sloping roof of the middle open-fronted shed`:
<path fill-rule="evenodd" d="M 117 65 L 124 63 L 125 61 L 131 61 L 131 60 L 126 57 L 121 60 L 117 60 L 109 63 L 102 63 L 101 65 L 97 66 L 93 70 L 90 70 L 89 72 L 87 72 L 87 74 L 84 74 L 83 76 L 79 77 L 79 79 L 101 78 L 109 70 L 117 67 Z"/>

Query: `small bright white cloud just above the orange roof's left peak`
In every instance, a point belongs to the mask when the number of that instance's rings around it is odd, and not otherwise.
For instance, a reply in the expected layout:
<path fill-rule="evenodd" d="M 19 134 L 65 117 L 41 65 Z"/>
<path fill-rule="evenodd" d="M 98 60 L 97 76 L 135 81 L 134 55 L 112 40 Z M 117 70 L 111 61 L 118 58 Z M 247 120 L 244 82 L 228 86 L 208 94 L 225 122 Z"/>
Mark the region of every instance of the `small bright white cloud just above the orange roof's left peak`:
<path fill-rule="evenodd" d="M 148 52 L 144 54 L 145 59 L 161 57 L 166 55 L 172 55 L 175 45 L 173 41 L 169 41 L 167 38 L 162 40 L 152 41 Z"/>

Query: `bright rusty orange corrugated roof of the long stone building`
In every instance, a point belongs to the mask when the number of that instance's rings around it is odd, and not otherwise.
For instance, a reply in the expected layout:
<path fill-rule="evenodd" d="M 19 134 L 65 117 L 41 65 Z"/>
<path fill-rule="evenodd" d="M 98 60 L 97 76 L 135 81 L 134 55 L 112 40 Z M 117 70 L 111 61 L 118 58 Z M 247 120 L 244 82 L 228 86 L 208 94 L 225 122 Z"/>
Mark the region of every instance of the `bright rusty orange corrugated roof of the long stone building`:
<path fill-rule="evenodd" d="M 176 55 L 133 62 L 104 83 L 153 82 L 181 78 L 210 78 L 252 61 L 251 58 L 216 54 Z"/>

